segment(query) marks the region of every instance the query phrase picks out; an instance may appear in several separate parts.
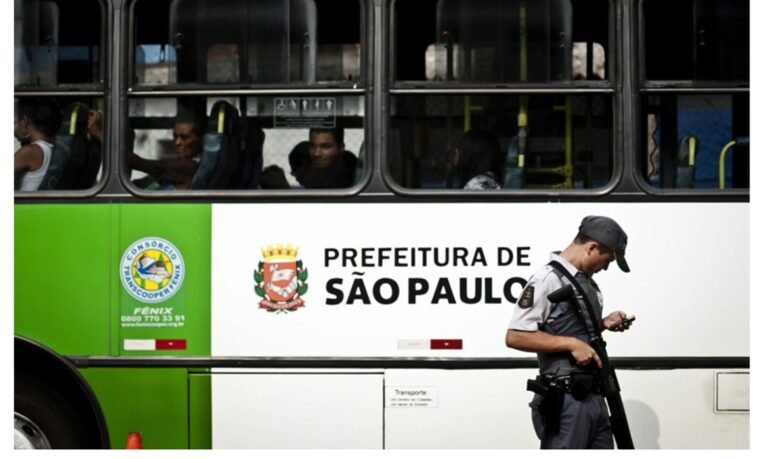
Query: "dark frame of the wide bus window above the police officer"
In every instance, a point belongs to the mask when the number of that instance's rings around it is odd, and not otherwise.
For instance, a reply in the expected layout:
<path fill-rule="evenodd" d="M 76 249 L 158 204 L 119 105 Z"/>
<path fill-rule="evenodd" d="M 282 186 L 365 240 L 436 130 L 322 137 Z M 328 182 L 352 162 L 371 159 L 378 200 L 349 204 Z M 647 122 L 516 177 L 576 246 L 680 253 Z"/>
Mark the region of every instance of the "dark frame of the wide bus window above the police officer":
<path fill-rule="evenodd" d="M 460 83 L 456 81 L 407 81 L 396 79 L 396 17 L 395 8 L 398 1 L 390 0 L 389 16 L 384 29 L 389 34 L 385 38 L 389 49 L 387 50 L 387 59 L 389 62 L 387 69 L 388 87 L 383 90 L 382 97 L 386 100 L 382 114 L 383 120 L 383 138 L 381 173 L 386 185 L 397 195 L 405 197 L 461 197 L 467 200 L 482 200 L 486 198 L 599 198 L 611 194 L 622 182 L 622 176 L 625 170 L 625 154 L 623 129 L 624 123 L 624 101 L 622 99 L 621 82 L 624 79 L 624 69 L 617 62 L 617 46 L 622 44 L 621 34 L 617 30 L 617 25 L 621 23 L 620 3 L 621 0 L 607 0 L 608 3 L 608 52 L 606 59 L 608 63 L 606 69 L 610 78 L 605 80 L 571 80 L 570 82 L 556 83 L 513 83 L 513 82 L 490 82 L 490 83 Z M 612 173 L 608 182 L 600 188 L 589 189 L 564 189 L 564 188 L 522 188 L 522 189 L 500 189 L 500 190 L 482 190 L 465 191 L 461 189 L 419 189 L 406 188 L 395 180 L 392 176 L 388 160 L 392 154 L 389 148 L 391 131 L 391 99 L 393 96 L 402 95 L 583 95 L 596 94 L 609 97 L 612 108 Z"/>

